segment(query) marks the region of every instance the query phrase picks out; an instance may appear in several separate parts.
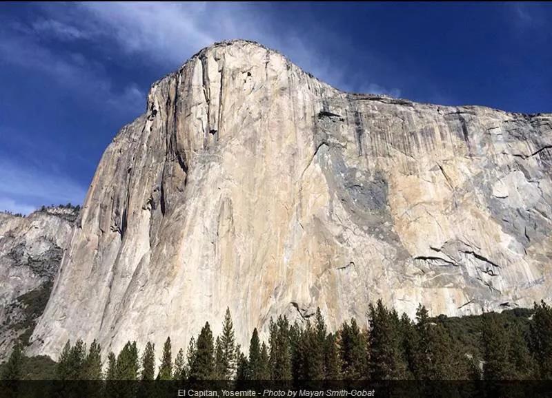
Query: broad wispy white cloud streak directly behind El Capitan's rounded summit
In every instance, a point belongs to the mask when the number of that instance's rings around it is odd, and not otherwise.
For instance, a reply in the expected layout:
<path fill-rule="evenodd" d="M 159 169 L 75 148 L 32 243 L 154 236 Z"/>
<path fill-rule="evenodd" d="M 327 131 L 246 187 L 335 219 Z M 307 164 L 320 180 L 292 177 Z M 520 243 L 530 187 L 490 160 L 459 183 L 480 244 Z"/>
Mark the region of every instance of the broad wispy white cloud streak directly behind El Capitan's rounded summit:
<path fill-rule="evenodd" d="M 396 96 L 395 87 L 382 87 L 363 76 L 362 83 L 351 79 L 348 61 L 333 59 L 317 48 L 319 41 L 341 41 L 336 32 L 313 25 L 309 34 L 287 26 L 255 6 L 238 3 L 77 3 L 72 7 L 49 6 L 43 28 L 51 34 L 79 36 L 102 43 L 103 48 L 136 56 L 172 70 L 189 56 L 226 39 L 251 39 L 281 51 L 291 61 L 323 81 L 347 91 L 378 90 Z M 344 41 L 345 42 L 345 41 Z M 366 56 L 366 54 L 364 54 Z M 369 70 L 365 71 L 369 75 Z M 366 83 L 368 79 L 368 83 Z"/>

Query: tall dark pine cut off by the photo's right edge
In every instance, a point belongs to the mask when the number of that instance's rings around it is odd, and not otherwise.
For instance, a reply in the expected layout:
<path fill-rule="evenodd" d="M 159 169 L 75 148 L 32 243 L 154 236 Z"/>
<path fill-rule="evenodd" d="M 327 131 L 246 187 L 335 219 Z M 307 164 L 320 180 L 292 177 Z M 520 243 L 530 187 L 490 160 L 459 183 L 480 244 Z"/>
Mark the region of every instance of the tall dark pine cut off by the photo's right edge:
<path fill-rule="evenodd" d="M 552 379 L 552 308 L 544 301 L 535 303 L 531 320 L 531 351 L 538 364 L 538 377 Z"/>

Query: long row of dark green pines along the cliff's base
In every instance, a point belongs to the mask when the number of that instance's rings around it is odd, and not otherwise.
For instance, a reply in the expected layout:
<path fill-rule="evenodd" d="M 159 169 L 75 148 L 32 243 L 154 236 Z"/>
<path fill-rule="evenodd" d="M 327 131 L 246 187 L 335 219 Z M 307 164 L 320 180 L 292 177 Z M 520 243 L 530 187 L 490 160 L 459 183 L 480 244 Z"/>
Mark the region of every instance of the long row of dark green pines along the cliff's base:
<path fill-rule="evenodd" d="M 530 313 L 531 311 L 527 311 Z M 527 315 L 527 313 L 525 315 Z M 381 301 L 369 306 L 366 328 L 355 319 L 328 333 L 317 310 L 312 320 L 290 324 L 286 317 L 270 320 L 268 342 L 253 330 L 248 355 L 235 342 L 227 309 L 220 336 L 205 324 L 190 339 L 186 353 L 173 356 L 166 339 L 160 366 L 155 346 L 148 342 L 139 353 L 128 342 L 102 367 L 97 342 L 67 342 L 59 357 L 61 380 L 510 380 L 552 379 L 552 308 L 534 305 L 531 317 L 486 313 L 471 317 L 466 333 L 458 333 L 453 318 L 428 317 L 424 306 L 416 319 L 400 316 Z M 458 318 L 462 320 L 462 318 Z M 478 322 L 472 322 L 478 320 Z M 459 321 L 460 322 L 460 321 Z M 475 325 L 475 328 L 473 328 Z M 19 379 L 21 347 L 3 368 L 4 379 Z"/>

